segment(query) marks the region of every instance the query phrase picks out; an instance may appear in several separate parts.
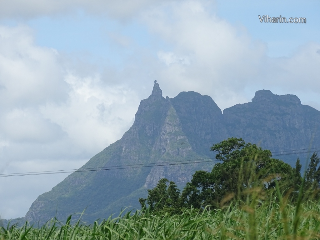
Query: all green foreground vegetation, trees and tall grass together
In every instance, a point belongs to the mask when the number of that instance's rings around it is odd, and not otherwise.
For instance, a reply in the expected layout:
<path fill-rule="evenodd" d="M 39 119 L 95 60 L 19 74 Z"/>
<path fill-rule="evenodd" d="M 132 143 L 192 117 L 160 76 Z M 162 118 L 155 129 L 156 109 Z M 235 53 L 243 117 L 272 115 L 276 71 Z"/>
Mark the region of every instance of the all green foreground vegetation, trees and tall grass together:
<path fill-rule="evenodd" d="M 314 153 L 303 177 L 242 139 L 212 150 L 223 161 L 197 171 L 180 193 L 166 179 L 140 198 L 141 211 L 86 225 L 56 219 L 0 229 L 3 239 L 320 239 L 320 158 Z"/>

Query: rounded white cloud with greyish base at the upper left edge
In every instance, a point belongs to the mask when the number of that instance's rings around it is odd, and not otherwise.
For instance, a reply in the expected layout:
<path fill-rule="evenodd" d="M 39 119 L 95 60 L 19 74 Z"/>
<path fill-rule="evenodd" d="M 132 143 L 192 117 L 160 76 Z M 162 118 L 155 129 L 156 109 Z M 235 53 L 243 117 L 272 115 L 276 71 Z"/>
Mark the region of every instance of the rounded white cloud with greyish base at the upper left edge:
<path fill-rule="evenodd" d="M 34 44 L 26 26 L 0 26 L 0 106 L 64 98 L 67 84 L 55 50 Z"/>

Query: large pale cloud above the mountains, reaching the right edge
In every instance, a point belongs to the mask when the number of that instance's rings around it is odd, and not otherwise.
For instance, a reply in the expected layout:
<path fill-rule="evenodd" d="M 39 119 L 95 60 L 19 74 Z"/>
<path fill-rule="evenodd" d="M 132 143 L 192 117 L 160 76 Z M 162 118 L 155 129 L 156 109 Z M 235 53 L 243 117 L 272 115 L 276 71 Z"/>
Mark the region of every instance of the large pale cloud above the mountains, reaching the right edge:
<path fill-rule="evenodd" d="M 310 91 L 319 96 L 319 44 L 301 46 L 288 58 L 268 57 L 266 43 L 208 11 L 207 4 L 164 3 L 141 14 L 150 32 L 171 48 L 157 52 L 162 65 L 156 74 L 165 94 L 197 91 L 222 110 L 250 101 L 260 89 L 302 100 Z"/>

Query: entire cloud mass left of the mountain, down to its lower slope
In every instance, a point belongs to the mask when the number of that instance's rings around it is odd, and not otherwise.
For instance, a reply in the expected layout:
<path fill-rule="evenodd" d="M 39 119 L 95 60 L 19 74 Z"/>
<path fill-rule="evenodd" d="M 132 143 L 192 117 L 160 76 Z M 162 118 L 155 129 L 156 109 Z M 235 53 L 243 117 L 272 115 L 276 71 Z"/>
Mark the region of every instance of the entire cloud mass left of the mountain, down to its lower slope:
<path fill-rule="evenodd" d="M 140 100 L 129 86 L 62 63 L 30 28 L 0 26 L 1 173 L 79 168 L 132 124 Z M 67 175 L 3 178 L 1 217 L 22 217 Z"/>

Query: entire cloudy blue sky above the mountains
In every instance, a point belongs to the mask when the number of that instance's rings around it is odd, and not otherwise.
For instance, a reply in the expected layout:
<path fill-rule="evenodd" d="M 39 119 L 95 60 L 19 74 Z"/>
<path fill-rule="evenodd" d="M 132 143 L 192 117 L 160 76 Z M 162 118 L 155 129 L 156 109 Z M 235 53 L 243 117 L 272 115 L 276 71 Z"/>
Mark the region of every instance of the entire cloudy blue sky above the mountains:
<path fill-rule="evenodd" d="M 221 110 L 260 89 L 320 110 L 319 1 L 0 3 L 0 172 L 78 168 L 120 139 L 157 79 Z M 259 15 L 304 17 L 261 23 Z M 1 178 L 2 218 L 66 175 Z"/>

